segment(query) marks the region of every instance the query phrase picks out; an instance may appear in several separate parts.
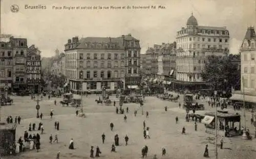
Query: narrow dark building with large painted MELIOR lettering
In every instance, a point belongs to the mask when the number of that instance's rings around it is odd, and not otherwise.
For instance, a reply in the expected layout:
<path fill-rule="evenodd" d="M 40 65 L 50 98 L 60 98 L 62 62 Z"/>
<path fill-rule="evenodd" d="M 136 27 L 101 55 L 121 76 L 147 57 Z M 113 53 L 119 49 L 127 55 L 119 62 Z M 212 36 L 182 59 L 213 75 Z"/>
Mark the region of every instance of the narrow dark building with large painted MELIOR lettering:
<path fill-rule="evenodd" d="M 27 54 L 27 67 L 26 67 L 26 75 L 27 75 L 27 85 L 28 89 L 32 90 L 33 93 L 41 92 L 41 51 L 35 47 L 35 45 L 31 45 L 28 48 Z"/>

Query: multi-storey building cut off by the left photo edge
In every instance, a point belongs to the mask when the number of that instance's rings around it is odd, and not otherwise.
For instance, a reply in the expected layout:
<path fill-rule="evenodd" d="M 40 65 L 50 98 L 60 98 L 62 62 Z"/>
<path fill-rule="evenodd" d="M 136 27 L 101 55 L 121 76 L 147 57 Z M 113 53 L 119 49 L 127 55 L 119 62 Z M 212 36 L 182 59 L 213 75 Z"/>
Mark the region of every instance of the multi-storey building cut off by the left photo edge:
<path fill-rule="evenodd" d="M 12 43 L 0 41 L 0 89 L 11 91 L 13 84 L 13 50 Z"/>

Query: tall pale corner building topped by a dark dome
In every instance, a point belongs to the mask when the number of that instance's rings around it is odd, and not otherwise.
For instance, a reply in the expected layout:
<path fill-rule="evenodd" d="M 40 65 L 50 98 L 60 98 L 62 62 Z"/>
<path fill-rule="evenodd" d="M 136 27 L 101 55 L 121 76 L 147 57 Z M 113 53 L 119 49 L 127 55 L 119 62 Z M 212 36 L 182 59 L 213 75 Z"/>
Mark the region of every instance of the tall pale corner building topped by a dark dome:
<path fill-rule="evenodd" d="M 177 32 L 176 39 L 177 87 L 188 86 L 188 89 L 205 87 L 201 71 L 204 69 L 207 56 L 228 55 L 228 30 L 226 27 L 200 26 L 192 14 L 187 20 L 186 28 Z"/>

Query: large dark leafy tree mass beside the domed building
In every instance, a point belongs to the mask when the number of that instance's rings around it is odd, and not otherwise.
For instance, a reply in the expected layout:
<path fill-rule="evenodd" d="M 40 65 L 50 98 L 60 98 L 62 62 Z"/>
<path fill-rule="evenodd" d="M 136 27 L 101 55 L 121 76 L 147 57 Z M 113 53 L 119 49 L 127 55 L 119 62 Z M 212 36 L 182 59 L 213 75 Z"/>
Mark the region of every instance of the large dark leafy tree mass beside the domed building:
<path fill-rule="evenodd" d="M 240 56 L 208 56 L 201 73 L 203 80 L 214 90 L 231 90 L 240 86 Z"/>

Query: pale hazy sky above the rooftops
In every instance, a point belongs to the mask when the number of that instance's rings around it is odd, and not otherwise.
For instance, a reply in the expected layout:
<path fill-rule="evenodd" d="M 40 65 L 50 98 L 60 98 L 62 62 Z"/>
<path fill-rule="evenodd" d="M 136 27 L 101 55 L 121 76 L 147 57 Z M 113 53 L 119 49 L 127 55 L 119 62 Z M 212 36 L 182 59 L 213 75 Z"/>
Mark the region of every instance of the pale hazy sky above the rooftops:
<path fill-rule="evenodd" d="M 0 0 L 1 34 L 27 38 L 43 57 L 64 50 L 68 39 L 119 37 L 132 34 L 140 40 L 141 54 L 148 46 L 173 42 L 193 12 L 199 25 L 226 26 L 230 33 L 230 54 L 238 54 L 248 26 L 256 27 L 256 0 Z M 19 11 L 11 12 L 17 5 Z M 46 9 L 25 9 L 25 6 Z M 158 9 L 158 6 L 165 9 Z M 39 6 L 39 7 L 40 7 Z M 53 7 L 62 9 L 53 9 Z M 74 10 L 63 6 L 75 7 Z M 81 9 L 81 7 L 102 9 Z M 156 9 L 103 9 L 110 6 L 156 6 Z M 80 9 L 76 9 L 80 7 Z"/>

